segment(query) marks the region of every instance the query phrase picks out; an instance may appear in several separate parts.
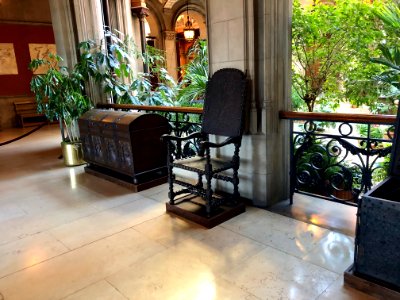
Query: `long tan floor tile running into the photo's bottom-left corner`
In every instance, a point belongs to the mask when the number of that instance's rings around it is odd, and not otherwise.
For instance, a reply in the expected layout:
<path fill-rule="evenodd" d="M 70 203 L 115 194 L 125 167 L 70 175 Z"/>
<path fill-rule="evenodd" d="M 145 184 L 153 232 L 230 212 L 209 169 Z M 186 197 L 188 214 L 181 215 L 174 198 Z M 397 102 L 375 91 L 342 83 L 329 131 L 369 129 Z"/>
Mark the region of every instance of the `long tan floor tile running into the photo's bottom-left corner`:
<path fill-rule="evenodd" d="M 0 293 L 7 300 L 60 299 L 164 249 L 128 229 L 3 277 Z"/>

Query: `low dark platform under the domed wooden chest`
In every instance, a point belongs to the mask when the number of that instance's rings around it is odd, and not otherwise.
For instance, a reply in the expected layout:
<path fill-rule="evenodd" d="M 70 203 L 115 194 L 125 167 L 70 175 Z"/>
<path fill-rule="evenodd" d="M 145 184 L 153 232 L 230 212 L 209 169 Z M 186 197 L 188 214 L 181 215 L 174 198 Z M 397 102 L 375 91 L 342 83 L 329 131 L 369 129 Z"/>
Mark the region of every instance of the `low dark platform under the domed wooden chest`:
<path fill-rule="evenodd" d="M 132 178 L 129 176 L 125 176 L 122 174 L 118 174 L 117 172 L 112 172 L 108 169 L 87 165 L 85 168 L 85 172 L 88 174 L 92 174 L 99 178 L 103 178 L 109 181 L 112 181 L 116 184 L 122 185 L 133 192 L 137 193 L 143 190 L 147 190 L 149 188 L 155 187 L 160 184 L 164 184 L 168 181 L 168 177 L 163 174 L 148 174 L 147 176 L 143 176 L 142 180 L 138 183 L 133 183 Z"/>

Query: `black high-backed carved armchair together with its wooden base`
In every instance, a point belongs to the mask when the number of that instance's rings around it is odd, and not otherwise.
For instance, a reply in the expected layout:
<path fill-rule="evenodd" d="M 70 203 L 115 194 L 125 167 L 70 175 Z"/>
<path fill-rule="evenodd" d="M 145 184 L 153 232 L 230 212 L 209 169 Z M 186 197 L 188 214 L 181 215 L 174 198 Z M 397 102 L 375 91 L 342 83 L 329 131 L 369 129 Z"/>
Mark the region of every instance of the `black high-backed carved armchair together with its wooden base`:
<path fill-rule="evenodd" d="M 246 76 L 240 70 L 221 69 L 215 72 L 206 87 L 201 130 L 187 137 L 163 136 L 163 140 L 168 142 L 167 211 L 211 228 L 245 210 L 244 204 L 239 201 L 238 170 L 246 86 Z M 209 141 L 209 135 L 223 136 L 225 140 L 222 143 L 213 143 Z M 199 141 L 198 154 L 189 158 L 175 159 L 176 144 L 188 139 Z M 213 155 L 216 149 L 223 147 L 232 150 L 230 157 Z M 196 174 L 197 182 L 193 183 L 186 178 L 176 176 L 177 169 Z M 233 192 L 225 195 L 215 193 L 212 184 L 214 180 L 232 183 Z M 174 184 L 184 188 L 174 191 Z M 188 193 L 189 196 L 177 199 L 178 195 Z"/>

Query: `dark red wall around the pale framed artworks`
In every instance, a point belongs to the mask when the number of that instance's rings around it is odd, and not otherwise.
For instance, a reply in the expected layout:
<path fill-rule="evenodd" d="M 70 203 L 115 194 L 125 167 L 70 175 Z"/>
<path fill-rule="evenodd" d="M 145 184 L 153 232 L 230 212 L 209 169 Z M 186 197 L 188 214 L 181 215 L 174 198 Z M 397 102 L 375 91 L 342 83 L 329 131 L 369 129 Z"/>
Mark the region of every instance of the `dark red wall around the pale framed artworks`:
<path fill-rule="evenodd" d="M 0 75 L 0 96 L 32 95 L 29 88 L 32 72 L 28 69 L 31 61 L 28 44 L 55 44 L 52 26 L 0 23 L 0 32 L 0 43 L 14 44 L 18 66 L 18 75 Z"/>

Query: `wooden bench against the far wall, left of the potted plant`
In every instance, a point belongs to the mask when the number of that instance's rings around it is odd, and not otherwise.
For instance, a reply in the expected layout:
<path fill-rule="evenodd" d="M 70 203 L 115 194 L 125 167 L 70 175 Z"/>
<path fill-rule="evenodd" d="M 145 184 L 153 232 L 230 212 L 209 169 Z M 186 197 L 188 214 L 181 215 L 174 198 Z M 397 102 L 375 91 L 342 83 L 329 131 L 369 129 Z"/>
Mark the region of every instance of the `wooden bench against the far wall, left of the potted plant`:
<path fill-rule="evenodd" d="M 14 102 L 14 108 L 20 127 L 36 126 L 47 122 L 46 115 L 37 112 L 35 100 Z"/>

